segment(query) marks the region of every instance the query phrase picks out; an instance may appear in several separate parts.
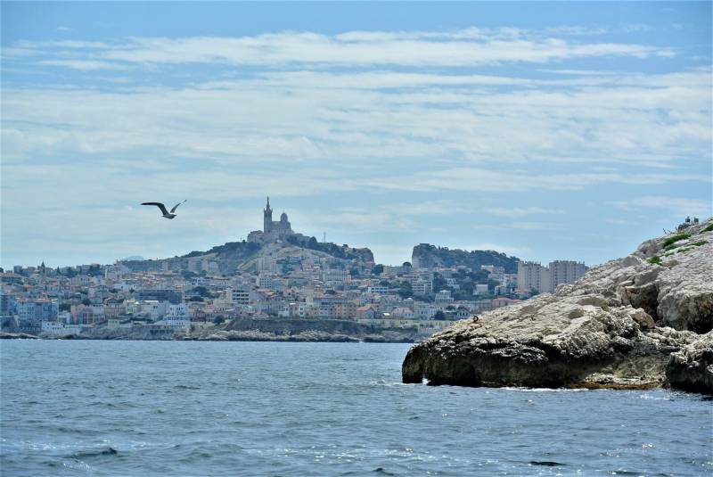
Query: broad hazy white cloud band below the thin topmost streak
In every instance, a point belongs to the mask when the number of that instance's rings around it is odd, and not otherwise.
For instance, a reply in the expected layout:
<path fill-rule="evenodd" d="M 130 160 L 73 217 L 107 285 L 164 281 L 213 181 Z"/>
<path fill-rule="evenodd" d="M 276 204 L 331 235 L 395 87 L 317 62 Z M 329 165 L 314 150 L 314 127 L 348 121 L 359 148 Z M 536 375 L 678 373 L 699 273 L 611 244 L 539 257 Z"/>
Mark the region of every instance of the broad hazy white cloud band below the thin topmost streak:
<path fill-rule="evenodd" d="M 482 75 L 283 71 L 114 92 L 5 87 L 4 159 L 151 148 L 217 162 L 680 163 L 710 156 L 709 75 L 540 85 Z"/>

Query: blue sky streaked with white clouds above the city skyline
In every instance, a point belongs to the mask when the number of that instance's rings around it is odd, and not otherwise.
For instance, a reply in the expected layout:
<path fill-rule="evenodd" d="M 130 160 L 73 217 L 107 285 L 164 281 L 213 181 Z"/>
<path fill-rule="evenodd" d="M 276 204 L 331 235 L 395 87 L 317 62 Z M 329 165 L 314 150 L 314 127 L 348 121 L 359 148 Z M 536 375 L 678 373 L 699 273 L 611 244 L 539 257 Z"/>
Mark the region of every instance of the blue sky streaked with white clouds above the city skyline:
<path fill-rule="evenodd" d="M 713 215 L 709 2 L 1 5 L 3 267 L 205 251 L 266 195 L 386 264 Z"/>

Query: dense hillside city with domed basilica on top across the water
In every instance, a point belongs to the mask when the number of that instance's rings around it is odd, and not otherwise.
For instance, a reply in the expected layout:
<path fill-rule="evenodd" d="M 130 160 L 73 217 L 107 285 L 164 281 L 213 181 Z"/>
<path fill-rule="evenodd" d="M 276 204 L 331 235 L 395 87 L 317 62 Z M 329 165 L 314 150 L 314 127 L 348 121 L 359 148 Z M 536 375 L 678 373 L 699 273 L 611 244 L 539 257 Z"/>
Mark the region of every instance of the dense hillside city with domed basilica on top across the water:
<path fill-rule="evenodd" d="M 411 262 L 374 263 L 368 249 L 318 243 L 292 231 L 285 213 L 247 241 L 173 259 L 112 265 L 13 267 L 2 273 L 3 331 L 47 337 L 137 330 L 166 337 L 234 320 L 351 320 L 416 328 L 425 336 L 454 320 L 553 292 L 584 263 L 545 267 L 495 251 L 414 247 Z"/>

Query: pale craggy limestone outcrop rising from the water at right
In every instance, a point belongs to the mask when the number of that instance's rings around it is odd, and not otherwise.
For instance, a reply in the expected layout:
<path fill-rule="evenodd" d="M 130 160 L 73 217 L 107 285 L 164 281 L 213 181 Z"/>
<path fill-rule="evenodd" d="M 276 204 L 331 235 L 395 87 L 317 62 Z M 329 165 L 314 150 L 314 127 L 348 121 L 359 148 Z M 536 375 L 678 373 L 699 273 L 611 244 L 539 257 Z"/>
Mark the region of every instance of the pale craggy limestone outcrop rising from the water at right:
<path fill-rule="evenodd" d="M 671 385 L 713 393 L 704 373 L 713 346 L 697 334 L 713 327 L 713 234 L 707 226 L 648 241 L 624 259 L 594 267 L 577 284 L 434 334 L 409 350 L 404 382 Z M 696 373 L 703 377 L 688 385 Z"/>

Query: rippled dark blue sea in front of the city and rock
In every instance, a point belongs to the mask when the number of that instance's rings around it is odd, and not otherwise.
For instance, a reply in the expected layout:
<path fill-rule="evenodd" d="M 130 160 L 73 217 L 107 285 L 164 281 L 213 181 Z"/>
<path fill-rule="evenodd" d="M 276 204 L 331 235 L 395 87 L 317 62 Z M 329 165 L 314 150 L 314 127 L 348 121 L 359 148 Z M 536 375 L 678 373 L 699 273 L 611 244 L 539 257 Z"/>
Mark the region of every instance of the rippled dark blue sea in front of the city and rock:
<path fill-rule="evenodd" d="M 701 475 L 713 401 L 400 383 L 408 345 L 3 341 L 2 475 Z"/>

